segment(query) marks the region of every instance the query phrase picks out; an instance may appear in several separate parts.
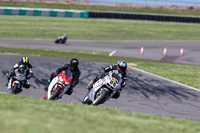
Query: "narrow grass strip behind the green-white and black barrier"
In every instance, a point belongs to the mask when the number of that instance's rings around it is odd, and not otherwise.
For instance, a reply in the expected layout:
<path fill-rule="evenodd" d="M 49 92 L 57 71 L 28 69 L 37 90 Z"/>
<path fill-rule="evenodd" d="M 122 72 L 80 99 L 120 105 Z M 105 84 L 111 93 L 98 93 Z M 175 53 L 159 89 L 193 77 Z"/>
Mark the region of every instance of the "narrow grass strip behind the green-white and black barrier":
<path fill-rule="evenodd" d="M 31 7 L 31 8 L 51 8 L 51 9 L 75 9 L 75 10 L 97 10 L 97 11 L 116 11 L 116 12 L 133 12 L 133 13 L 155 13 L 155 14 L 173 14 L 173 15 L 189 15 L 200 16 L 200 12 L 196 10 L 170 10 L 155 8 L 135 8 L 135 7 L 114 7 L 114 6 L 88 6 L 73 4 L 45 4 L 45 3 L 28 3 L 28 2 L 0 2 L 1 6 L 8 7 Z"/>

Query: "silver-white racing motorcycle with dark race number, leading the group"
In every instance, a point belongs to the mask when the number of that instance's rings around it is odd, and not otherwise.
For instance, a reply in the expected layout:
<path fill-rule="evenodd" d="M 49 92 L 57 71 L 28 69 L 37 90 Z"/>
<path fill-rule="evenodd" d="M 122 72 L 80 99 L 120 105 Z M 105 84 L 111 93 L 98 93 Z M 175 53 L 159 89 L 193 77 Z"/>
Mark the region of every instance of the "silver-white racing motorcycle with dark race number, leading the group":
<path fill-rule="evenodd" d="M 105 77 L 97 80 L 93 88 L 84 97 L 83 104 L 99 105 L 112 98 L 121 89 L 122 79 L 119 75 L 109 72 Z M 91 82 L 89 83 L 89 85 Z"/>

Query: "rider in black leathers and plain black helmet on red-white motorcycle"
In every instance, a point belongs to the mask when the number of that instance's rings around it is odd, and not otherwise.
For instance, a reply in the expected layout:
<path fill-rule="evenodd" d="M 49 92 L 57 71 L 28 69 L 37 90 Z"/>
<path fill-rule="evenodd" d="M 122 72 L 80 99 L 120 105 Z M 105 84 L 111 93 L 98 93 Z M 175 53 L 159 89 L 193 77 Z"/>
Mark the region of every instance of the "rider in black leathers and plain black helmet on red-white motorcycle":
<path fill-rule="evenodd" d="M 81 71 L 78 68 L 79 61 L 75 58 L 71 59 L 70 64 L 64 64 L 62 67 L 58 68 L 55 72 L 51 73 L 50 78 L 48 80 L 47 85 L 44 87 L 44 90 L 47 91 L 49 84 L 62 72 L 62 70 L 70 70 L 72 72 L 72 84 L 69 89 L 65 92 L 65 94 L 71 95 L 73 93 L 73 88 L 79 83 L 79 77 L 81 75 Z"/>

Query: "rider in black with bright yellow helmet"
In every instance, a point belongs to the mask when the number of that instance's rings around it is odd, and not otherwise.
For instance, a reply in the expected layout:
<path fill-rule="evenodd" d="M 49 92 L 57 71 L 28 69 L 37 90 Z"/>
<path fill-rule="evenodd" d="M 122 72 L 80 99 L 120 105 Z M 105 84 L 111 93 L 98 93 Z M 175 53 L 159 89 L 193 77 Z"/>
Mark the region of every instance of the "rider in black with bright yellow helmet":
<path fill-rule="evenodd" d="M 25 67 L 26 72 L 27 72 L 27 80 L 24 83 L 23 87 L 26 89 L 30 88 L 30 83 L 29 80 L 31 77 L 33 77 L 33 70 L 32 70 L 32 65 L 29 63 L 29 59 L 28 57 L 22 57 L 22 59 L 16 63 L 12 68 L 11 68 L 11 72 L 7 73 L 7 78 L 8 78 L 8 82 L 10 81 L 10 78 L 12 78 L 15 74 L 15 70 L 20 68 L 20 67 Z M 6 84 L 6 86 L 8 86 L 8 82 Z M 20 90 L 20 92 L 22 91 L 22 89 Z"/>

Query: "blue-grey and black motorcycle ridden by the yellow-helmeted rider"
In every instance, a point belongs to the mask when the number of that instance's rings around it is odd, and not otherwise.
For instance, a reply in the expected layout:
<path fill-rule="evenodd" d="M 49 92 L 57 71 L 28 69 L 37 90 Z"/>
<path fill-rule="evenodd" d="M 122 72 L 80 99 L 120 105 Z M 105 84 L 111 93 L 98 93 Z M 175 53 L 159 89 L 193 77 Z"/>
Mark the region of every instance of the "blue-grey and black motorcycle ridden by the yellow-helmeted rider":
<path fill-rule="evenodd" d="M 8 90 L 12 94 L 19 94 L 22 91 L 22 86 L 27 80 L 27 72 L 24 67 L 20 67 L 14 71 L 14 76 L 10 78 Z"/>

